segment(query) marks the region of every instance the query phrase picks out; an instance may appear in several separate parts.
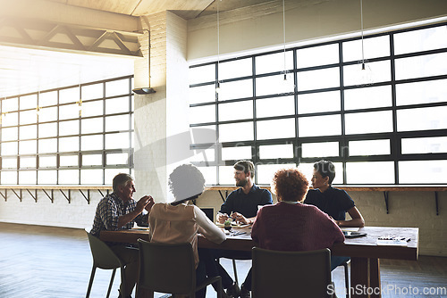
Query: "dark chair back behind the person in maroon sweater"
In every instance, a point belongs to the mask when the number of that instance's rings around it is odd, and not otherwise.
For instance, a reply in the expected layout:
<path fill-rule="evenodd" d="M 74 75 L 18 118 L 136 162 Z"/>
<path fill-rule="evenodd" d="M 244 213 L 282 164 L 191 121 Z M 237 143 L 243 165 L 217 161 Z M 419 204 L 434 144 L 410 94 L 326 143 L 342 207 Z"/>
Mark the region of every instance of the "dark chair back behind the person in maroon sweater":
<path fill-rule="evenodd" d="M 332 297 L 331 251 L 277 252 L 253 248 L 253 298 Z M 333 289 L 334 290 L 334 289 Z"/>

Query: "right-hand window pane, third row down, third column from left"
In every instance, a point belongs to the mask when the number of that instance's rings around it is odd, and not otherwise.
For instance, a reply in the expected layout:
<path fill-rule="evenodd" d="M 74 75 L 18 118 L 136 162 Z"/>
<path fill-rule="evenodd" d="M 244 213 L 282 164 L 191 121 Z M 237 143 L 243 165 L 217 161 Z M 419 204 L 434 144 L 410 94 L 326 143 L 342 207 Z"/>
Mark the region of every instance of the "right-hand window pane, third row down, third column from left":
<path fill-rule="evenodd" d="M 295 113 L 295 100 L 293 96 L 257 99 L 257 118 L 293 115 Z"/>

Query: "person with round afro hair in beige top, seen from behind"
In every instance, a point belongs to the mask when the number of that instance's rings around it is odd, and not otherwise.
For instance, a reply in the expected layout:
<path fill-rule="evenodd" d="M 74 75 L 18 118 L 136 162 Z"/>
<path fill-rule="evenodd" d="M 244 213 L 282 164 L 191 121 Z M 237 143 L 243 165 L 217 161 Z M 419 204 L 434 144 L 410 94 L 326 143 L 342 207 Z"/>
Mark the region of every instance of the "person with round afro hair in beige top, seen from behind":
<path fill-rule="evenodd" d="M 172 203 L 156 203 L 152 207 L 149 214 L 151 242 L 190 242 L 196 262 L 196 280 L 200 284 L 207 276 L 215 277 L 218 273 L 211 253 L 207 249 L 198 250 L 198 233 L 216 244 L 221 244 L 226 237 L 204 211 L 188 204 L 202 194 L 205 186 L 205 178 L 195 166 L 183 164 L 177 167 L 169 176 L 168 184 L 175 200 Z M 196 297 L 205 298 L 206 291 L 207 288 L 198 291 Z"/>

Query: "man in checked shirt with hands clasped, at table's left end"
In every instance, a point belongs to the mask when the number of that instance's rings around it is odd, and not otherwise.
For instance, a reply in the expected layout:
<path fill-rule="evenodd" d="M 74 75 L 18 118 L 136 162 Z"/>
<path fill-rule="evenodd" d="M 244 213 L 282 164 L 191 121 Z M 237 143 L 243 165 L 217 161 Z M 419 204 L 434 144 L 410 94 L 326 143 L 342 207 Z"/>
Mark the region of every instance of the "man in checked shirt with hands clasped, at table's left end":
<path fill-rule="evenodd" d="M 130 229 L 136 222 L 139 226 L 148 227 L 148 211 L 154 204 L 150 195 L 145 195 L 139 202 L 133 200 L 135 184 L 128 174 L 118 174 L 113 180 L 114 192 L 106 195 L 97 203 L 97 212 L 93 220 L 90 233 L 99 237 L 102 230 L 116 231 Z M 146 211 L 145 211 L 146 210 Z M 143 213 L 145 211 L 146 213 Z M 131 293 L 139 272 L 139 252 L 131 249 L 130 244 L 107 243 L 116 255 L 127 263 L 124 272 L 126 275 L 125 292 L 120 290 L 120 297 L 131 297 Z M 122 289 L 122 286 L 120 287 Z"/>

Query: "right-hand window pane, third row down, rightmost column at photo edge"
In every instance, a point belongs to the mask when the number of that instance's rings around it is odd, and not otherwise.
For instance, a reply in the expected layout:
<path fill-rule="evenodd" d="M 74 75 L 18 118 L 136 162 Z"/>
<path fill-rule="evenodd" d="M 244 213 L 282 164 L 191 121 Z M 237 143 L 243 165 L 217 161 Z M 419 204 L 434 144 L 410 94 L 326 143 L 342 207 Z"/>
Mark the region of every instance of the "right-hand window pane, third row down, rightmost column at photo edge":
<path fill-rule="evenodd" d="M 397 105 L 447 102 L 447 79 L 397 84 Z"/>

